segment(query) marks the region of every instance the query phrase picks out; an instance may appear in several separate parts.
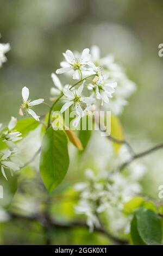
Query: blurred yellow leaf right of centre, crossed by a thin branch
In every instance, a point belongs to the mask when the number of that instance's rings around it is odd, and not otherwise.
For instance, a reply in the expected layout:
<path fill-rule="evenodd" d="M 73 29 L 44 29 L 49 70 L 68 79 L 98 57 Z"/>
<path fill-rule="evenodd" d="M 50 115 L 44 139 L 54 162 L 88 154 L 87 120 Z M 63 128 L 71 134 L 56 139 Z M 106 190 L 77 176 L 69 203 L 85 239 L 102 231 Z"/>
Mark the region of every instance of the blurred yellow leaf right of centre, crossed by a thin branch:
<path fill-rule="evenodd" d="M 124 139 L 121 122 L 114 115 L 111 115 L 111 136 L 116 139 L 119 139 L 120 141 L 123 141 Z M 114 146 L 115 152 L 118 153 L 118 151 L 122 147 L 122 144 L 113 142 L 113 146 Z"/>

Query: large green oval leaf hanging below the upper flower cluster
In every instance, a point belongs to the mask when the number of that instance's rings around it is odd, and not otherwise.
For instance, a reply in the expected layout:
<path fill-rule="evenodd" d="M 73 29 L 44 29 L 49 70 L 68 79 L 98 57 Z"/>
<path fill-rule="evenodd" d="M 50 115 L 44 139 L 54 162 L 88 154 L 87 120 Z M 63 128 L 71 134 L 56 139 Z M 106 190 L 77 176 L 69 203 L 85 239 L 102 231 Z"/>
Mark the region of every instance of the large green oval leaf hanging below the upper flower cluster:
<path fill-rule="evenodd" d="M 64 179 L 69 165 L 67 137 L 62 130 L 50 127 L 43 137 L 40 173 L 49 192 L 53 191 Z"/>

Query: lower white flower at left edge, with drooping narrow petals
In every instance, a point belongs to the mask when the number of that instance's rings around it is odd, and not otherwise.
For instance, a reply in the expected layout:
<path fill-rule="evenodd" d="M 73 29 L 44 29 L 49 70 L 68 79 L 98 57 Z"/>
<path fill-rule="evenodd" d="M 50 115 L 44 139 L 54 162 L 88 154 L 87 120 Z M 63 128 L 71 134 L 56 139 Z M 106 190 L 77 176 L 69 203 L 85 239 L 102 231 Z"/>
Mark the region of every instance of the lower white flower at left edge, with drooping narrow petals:
<path fill-rule="evenodd" d="M 1 171 L 5 179 L 7 179 L 7 176 L 5 175 L 5 172 L 4 172 L 5 168 L 10 169 L 11 172 L 12 170 L 15 172 L 16 170 L 20 170 L 20 166 L 22 165 L 13 161 L 15 160 L 15 157 L 13 157 L 14 155 L 15 155 L 15 151 L 7 150 L 0 159 Z"/>

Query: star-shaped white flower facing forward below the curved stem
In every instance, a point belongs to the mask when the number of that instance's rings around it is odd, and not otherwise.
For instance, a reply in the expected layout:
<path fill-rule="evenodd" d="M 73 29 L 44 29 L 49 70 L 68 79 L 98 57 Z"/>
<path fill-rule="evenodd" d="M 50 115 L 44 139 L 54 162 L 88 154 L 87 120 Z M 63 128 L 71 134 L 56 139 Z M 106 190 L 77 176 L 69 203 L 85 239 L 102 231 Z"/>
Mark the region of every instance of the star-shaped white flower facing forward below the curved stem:
<path fill-rule="evenodd" d="M 84 81 L 85 82 L 85 81 Z M 83 84 L 81 84 L 81 86 L 79 86 L 79 88 L 77 90 L 74 90 L 73 92 L 71 92 L 70 89 L 64 88 L 63 93 L 66 96 L 66 100 L 68 100 L 68 102 L 66 102 L 62 108 L 61 108 L 61 113 L 63 113 L 64 111 L 66 111 L 67 108 L 69 108 L 70 106 L 73 105 L 74 109 L 76 110 L 76 112 L 78 113 L 78 115 L 80 115 L 80 117 L 82 117 L 83 115 L 83 109 L 80 106 L 80 104 L 92 104 L 93 102 L 95 102 L 95 99 L 93 99 L 92 97 L 83 97 L 82 91 L 84 88 L 84 82 Z"/>

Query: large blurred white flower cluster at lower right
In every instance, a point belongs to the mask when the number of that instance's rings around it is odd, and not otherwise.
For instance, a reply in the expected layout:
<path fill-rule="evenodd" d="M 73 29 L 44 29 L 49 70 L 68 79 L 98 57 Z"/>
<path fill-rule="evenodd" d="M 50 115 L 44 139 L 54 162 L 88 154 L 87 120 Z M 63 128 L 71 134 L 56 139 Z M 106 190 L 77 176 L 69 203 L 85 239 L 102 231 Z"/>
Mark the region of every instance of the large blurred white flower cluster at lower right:
<path fill-rule="evenodd" d="M 96 157 L 96 153 L 93 152 L 93 154 Z M 129 154 L 126 147 L 120 149 L 116 164 L 123 161 L 124 154 Z M 105 156 L 101 158 L 103 161 Z M 114 169 L 114 162 L 111 162 L 111 158 L 108 163 Z M 74 186 L 75 190 L 79 192 L 79 201 L 75 206 L 75 211 L 77 214 L 86 216 L 90 231 L 94 227 L 98 228 L 101 216 L 105 216 L 111 231 L 117 231 L 117 234 L 120 231 L 123 234 L 128 233 L 130 216 L 127 217 L 123 214 L 123 205 L 141 192 L 139 181 L 145 174 L 145 167 L 140 163 L 133 163 L 126 172 L 110 172 L 108 163 L 105 167 L 99 163 L 100 167 L 98 169 L 96 165 L 96 170 L 87 169 L 85 171 L 86 181 Z M 114 223 L 114 227 L 112 223 Z"/>

